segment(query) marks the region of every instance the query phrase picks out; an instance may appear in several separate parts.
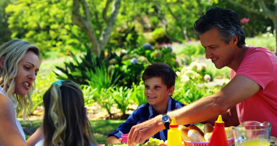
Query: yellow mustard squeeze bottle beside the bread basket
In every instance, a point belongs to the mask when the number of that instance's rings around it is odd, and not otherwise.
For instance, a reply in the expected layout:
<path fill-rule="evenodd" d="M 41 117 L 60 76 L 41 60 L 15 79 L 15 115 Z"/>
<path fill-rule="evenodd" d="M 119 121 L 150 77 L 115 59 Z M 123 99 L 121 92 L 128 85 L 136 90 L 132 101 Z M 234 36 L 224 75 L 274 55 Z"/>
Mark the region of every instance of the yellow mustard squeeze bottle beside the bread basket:
<path fill-rule="evenodd" d="M 183 146 L 181 131 L 179 131 L 178 126 L 175 118 L 173 118 L 167 132 L 167 146 Z"/>

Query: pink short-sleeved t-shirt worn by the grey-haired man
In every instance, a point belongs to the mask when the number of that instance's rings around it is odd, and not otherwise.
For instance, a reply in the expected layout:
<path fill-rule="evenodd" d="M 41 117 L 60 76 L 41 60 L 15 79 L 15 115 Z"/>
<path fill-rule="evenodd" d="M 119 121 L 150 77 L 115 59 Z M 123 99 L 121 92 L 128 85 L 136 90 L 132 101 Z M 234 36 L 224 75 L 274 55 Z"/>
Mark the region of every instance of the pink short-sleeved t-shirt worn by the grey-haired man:
<path fill-rule="evenodd" d="M 231 80 L 243 75 L 257 82 L 261 89 L 237 104 L 238 120 L 270 121 L 271 136 L 277 137 L 277 57 L 265 48 L 248 48 L 240 66 L 231 69 Z"/>

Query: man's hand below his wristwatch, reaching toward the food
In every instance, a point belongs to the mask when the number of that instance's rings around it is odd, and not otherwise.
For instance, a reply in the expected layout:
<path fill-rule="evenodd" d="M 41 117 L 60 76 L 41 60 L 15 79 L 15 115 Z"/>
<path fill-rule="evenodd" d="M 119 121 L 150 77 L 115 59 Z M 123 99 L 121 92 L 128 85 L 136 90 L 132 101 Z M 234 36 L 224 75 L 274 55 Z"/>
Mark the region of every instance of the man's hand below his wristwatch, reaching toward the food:
<path fill-rule="evenodd" d="M 128 135 L 128 146 L 143 144 L 145 140 L 155 135 L 158 131 L 165 129 L 163 125 L 158 123 L 158 118 L 161 122 L 161 116 L 156 116 L 151 120 L 133 126 Z"/>

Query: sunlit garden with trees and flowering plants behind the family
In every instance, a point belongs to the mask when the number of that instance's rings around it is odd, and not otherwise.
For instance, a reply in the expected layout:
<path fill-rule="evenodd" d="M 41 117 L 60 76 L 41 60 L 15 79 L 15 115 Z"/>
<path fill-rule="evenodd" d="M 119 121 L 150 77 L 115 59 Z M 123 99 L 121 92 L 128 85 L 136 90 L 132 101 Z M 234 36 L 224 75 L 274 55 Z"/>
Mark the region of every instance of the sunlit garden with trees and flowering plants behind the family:
<path fill-rule="evenodd" d="M 205 58 L 193 30 L 195 20 L 215 6 L 238 13 L 247 46 L 276 52 L 273 0 L 1 0 L 0 44 L 26 40 L 39 46 L 43 56 L 32 126 L 21 120 L 29 127 L 26 135 L 41 125 L 42 96 L 58 79 L 82 88 L 100 144 L 147 102 L 141 74 L 153 62 L 176 71 L 173 98 L 186 105 L 220 90 L 230 69 L 218 70 Z"/>

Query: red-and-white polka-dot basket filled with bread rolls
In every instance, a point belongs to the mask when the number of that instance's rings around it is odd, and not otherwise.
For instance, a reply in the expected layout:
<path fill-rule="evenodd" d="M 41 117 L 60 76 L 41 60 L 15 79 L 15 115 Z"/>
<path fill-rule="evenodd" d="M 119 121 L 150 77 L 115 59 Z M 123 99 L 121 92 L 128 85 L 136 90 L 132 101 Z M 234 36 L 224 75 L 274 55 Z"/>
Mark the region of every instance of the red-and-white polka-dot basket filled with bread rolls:
<path fill-rule="evenodd" d="M 234 143 L 233 127 L 230 126 L 225 130 L 229 146 Z M 188 127 L 179 125 L 178 129 L 181 131 L 184 146 L 209 146 L 214 127 L 212 124 L 205 124 L 203 127 L 204 132 L 195 125 Z"/>

